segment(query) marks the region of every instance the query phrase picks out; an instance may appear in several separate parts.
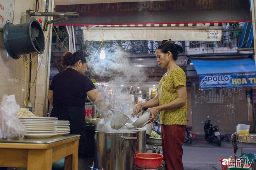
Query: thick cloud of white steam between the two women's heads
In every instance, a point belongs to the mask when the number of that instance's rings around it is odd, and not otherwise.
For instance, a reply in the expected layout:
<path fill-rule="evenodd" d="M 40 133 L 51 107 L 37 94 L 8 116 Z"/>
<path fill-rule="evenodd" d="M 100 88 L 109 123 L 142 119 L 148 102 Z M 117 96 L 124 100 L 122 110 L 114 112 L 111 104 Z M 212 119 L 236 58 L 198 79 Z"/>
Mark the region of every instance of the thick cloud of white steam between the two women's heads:
<path fill-rule="evenodd" d="M 123 51 L 121 47 L 105 48 L 106 58 L 100 60 L 97 55 L 89 58 L 88 69 L 90 77 L 108 79 L 109 84 L 120 84 L 122 82 L 145 81 L 144 69 L 136 67 L 130 61 L 130 54 Z M 97 81 L 97 78 L 95 78 Z"/>

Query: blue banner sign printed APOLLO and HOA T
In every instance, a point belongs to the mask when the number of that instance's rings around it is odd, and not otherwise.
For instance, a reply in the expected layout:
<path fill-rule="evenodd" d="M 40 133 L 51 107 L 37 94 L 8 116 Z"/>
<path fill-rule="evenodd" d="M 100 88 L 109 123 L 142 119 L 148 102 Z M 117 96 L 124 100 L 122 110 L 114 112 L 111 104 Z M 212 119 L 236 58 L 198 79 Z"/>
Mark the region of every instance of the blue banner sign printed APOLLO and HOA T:
<path fill-rule="evenodd" d="M 199 75 L 200 89 L 255 88 L 256 72 Z"/>

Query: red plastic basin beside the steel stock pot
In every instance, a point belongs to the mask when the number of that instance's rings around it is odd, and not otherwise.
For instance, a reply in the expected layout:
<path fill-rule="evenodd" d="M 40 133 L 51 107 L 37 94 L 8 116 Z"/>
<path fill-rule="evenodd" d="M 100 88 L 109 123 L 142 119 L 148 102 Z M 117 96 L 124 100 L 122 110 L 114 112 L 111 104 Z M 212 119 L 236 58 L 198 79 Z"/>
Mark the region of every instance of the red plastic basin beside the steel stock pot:
<path fill-rule="evenodd" d="M 161 166 L 164 156 L 158 153 L 137 153 L 135 163 L 139 167 L 156 169 Z"/>

